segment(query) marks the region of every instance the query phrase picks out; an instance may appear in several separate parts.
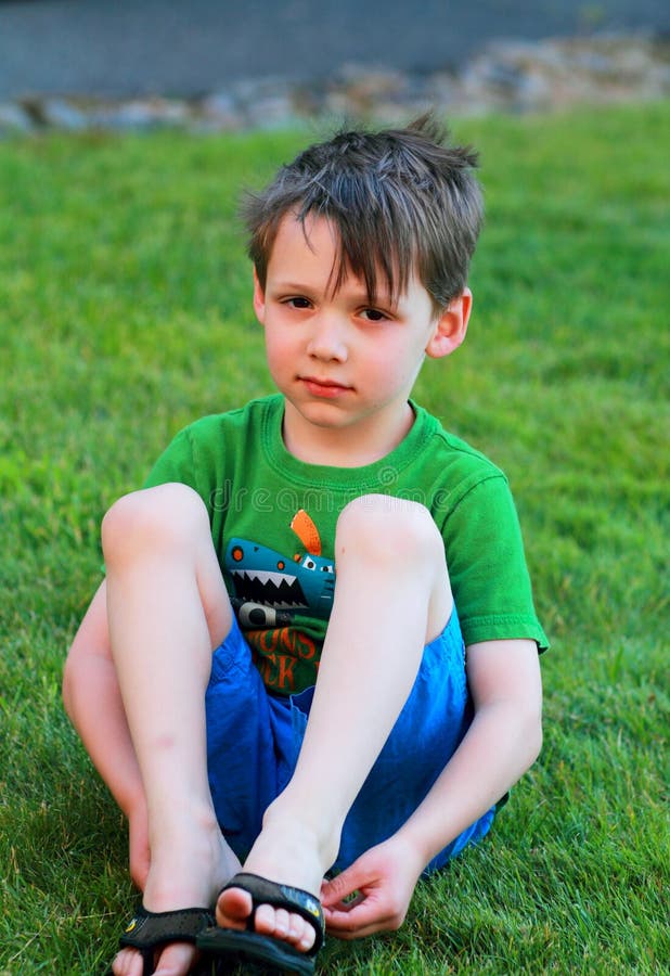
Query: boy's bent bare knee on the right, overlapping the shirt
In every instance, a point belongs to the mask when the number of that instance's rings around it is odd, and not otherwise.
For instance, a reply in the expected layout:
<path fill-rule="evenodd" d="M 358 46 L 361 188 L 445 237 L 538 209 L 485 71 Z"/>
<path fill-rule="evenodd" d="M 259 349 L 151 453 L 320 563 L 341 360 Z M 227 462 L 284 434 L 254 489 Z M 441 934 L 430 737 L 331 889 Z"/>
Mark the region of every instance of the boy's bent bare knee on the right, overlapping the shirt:
<path fill-rule="evenodd" d="M 336 558 L 353 552 L 399 568 L 444 557 L 441 537 L 426 506 L 386 495 L 363 495 L 343 509 L 335 547 Z"/>

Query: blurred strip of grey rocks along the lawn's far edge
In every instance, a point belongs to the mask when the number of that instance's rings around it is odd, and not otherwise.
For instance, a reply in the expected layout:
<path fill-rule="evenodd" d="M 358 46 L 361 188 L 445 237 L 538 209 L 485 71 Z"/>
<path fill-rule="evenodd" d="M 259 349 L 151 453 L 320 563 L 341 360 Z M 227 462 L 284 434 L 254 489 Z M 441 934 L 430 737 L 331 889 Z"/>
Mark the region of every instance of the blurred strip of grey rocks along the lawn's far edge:
<path fill-rule="evenodd" d="M 291 82 L 247 78 L 201 99 L 146 98 L 105 102 L 33 97 L 0 104 L 0 134 L 60 128 L 67 131 L 239 131 L 304 126 L 306 120 L 375 118 L 395 123 L 428 107 L 449 115 L 545 112 L 659 99 L 670 93 L 670 41 L 644 35 L 501 40 L 460 74 L 402 73 L 345 64 L 331 78 Z"/>

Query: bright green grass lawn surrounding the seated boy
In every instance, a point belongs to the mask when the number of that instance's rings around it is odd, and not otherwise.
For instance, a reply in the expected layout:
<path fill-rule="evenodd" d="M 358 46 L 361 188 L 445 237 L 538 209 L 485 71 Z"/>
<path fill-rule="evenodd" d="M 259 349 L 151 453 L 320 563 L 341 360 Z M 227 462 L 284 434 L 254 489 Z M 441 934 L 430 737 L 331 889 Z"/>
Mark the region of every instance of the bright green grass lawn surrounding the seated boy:
<path fill-rule="evenodd" d="M 488 222 L 468 341 L 417 398 L 508 473 L 545 745 L 478 849 L 337 974 L 663 973 L 670 105 L 462 121 Z M 234 219 L 304 136 L 0 144 L 0 974 L 100 974 L 125 829 L 60 702 L 105 509 L 270 389 Z M 666 891 L 663 892 L 663 887 Z"/>

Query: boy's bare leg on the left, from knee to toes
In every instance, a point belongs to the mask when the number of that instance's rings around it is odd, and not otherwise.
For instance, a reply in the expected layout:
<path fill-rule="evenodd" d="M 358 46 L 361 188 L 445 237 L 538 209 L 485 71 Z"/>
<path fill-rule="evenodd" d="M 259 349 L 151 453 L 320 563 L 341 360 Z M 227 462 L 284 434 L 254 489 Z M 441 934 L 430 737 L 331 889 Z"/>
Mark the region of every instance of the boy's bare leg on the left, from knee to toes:
<path fill-rule="evenodd" d="M 145 793 L 154 912 L 212 903 L 239 862 L 217 825 L 207 780 L 205 691 L 232 608 L 199 497 L 164 485 L 120 499 L 103 522 L 112 654 Z M 159 972 L 185 974 L 191 946 Z M 116 973 L 141 972 L 124 950 Z M 157 971 L 158 972 L 158 971 Z"/>

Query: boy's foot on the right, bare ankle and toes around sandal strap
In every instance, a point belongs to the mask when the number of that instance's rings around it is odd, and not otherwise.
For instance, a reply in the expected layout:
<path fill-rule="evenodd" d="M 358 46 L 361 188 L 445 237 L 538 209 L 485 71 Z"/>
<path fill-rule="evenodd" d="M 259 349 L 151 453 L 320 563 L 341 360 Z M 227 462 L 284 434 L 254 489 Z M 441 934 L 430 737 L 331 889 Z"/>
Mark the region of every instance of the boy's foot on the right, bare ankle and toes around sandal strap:
<path fill-rule="evenodd" d="M 304 823 L 292 818 L 281 819 L 268 811 L 263 829 L 244 862 L 244 871 L 268 881 L 302 888 L 319 897 L 321 882 L 335 853 L 324 856 L 317 838 Z M 327 863 L 325 863 L 327 862 Z M 252 896 L 243 888 L 222 891 L 217 902 L 217 924 L 221 928 L 245 929 L 253 911 Z M 272 936 L 308 952 L 314 943 L 315 932 L 301 915 L 261 904 L 256 910 L 255 930 Z"/>

